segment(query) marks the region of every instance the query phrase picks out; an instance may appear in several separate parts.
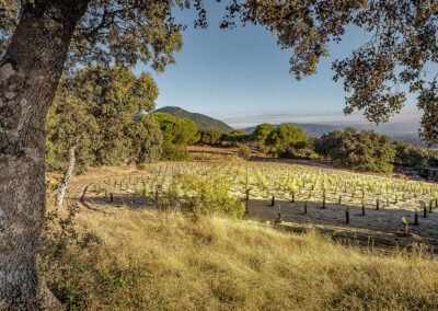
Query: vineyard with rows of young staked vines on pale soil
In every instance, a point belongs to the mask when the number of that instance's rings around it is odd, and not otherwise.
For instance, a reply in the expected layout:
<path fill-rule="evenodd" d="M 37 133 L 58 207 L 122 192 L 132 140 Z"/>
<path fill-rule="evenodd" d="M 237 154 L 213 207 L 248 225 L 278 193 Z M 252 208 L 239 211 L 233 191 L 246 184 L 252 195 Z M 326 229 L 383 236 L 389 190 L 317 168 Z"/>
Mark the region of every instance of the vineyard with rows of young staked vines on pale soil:
<path fill-rule="evenodd" d="M 310 165 L 174 162 L 99 170 L 78 178 L 67 204 L 226 211 L 438 245 L 438 185 Z M 293 227 L 293 226 L 292 226 Z"/>

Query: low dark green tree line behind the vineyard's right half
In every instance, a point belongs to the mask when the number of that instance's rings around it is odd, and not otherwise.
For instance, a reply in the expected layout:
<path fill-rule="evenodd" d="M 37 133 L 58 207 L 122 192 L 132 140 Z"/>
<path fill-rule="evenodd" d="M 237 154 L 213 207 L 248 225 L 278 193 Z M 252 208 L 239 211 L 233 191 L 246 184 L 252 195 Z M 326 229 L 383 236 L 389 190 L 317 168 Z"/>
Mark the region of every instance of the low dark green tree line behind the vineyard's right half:
<path fill-rule="evenodd" d="M 325 158 L 332 160 L 336 168 L 360 172 L 392 172 L 395 166 L 407 166 L 425 175 L 426 168 L 438 165 L 437 151 L 393 141 L 389 136 L 373 130 L 358 131 L 355 128 L 346 128 L 344 131 L 335 130 L 321 138 L 310 139 L 297 126 L 275 127 L 265 123 L 257 125 L 252 134 L 242 130 L 229 134 L 199 130 L 199 143 L 203 145 L 247 146 L 278 158 Z"/>

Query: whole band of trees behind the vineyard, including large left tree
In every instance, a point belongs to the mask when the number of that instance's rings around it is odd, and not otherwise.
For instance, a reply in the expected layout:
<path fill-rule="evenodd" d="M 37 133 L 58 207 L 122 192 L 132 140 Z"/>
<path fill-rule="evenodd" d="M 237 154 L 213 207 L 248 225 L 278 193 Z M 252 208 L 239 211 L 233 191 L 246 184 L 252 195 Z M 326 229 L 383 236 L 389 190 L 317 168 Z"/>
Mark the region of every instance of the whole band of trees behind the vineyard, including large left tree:
<path fill-rule="evenodd" d="M 331 131 L 319 139 L 306 137 L 293 125 L 257 125 L 252 134 L 197 128 L 189 118 L 152 113 L 158 88 L 149 73 L 136 77 L 130 68 L 89 67 L 61 79 L 50 107 L 46 131 L 46 163 L 66 172 L 85 166 L 191 160 L 188 145 L 239 147 L 278 158 L 320 159 L 357 171 L 392 172 L 410 166 L 424 174 L 438 164 L 437 152 L 413 147 L 374 131 Z"/>

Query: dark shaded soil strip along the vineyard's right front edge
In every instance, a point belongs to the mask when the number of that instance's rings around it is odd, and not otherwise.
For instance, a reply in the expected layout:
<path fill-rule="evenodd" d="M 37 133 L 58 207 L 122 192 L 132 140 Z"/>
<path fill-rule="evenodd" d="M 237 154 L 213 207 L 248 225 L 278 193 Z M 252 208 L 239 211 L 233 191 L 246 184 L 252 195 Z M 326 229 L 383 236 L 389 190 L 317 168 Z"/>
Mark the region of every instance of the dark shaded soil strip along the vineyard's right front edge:
<path fill-rule="evenodd" d="M 249 218 L 261 221 L 277 218 L 278 208 L 284 222 L 280 228 L 293 232 L 303 232 L 314 229 L 323 234 L 337 235 L 337 238 L 354 238 L 361 245 L 381 246 L 410 246 L 413 243 L 424 243 L 433 252 L 438 252 L 438 212 L 418 212 L 419 226 L 414 226 L 414 211 L 405 209 L 389 209 L 366 207 L 365 216 L 359 206 L 344 204 L 326 204 L 310 201 L 290 203 L 276 200 L 270 206 L 270 199 L 252 199 L 249 201 Z M 346 207 L 349 207 L 349 223 L 346 223 Z M 403 233 L 402 218 L 408 221 L 408 234 Z"/>

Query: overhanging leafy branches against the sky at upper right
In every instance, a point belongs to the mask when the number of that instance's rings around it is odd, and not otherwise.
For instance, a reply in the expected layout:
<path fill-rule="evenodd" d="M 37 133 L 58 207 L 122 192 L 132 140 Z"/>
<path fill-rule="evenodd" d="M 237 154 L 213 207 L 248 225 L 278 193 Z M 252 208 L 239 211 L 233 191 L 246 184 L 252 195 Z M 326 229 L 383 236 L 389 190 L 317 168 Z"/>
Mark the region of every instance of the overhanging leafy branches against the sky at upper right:
<path fill-rule="evenodd" d="M 290 72 L 301 79 L 316 72 L 328 44 L 339 43 L 347 27 L 365 31 L 368 41 L 333 62 L 343 80 L 346 114 L 364 111 L 372 123 L 388 122 L 406 101 L 401 85 L 417 95 L 424 139 L 438 141 L 438 2 L 434 0 L 232 1 L 223 27 L 261 24 L 284 48 L 291 48 Z"/>

